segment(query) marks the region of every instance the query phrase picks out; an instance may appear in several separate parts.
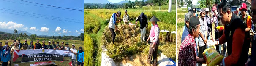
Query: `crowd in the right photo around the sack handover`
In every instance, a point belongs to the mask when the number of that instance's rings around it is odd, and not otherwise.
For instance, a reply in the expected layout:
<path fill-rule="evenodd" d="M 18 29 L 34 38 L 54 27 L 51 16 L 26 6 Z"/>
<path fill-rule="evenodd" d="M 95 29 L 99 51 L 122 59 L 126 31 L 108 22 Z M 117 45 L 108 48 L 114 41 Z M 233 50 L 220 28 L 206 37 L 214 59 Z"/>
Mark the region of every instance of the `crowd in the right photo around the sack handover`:
<path fill-rule="evenodd" d="M 221 0 L 218 6 L 213 5 L 211 15 L 209 8 L 203 8 L 200 17 L 196 17 L 196 7 L 191 5 L 185 14 L 178 66 L 202 66 L 205 63 L 202 53 L 209 48 L 206 44 L 210 41 L 224 56 L 220 65 L 255 66 L 255 0 L 251 5 L 250 12 L 247 12 L 245 3 L 232 12 L 229 0 Z M 241 15 L 237 14 L 239 11 Z M 250 44 L 252 50 L 249 56 Z"/>

